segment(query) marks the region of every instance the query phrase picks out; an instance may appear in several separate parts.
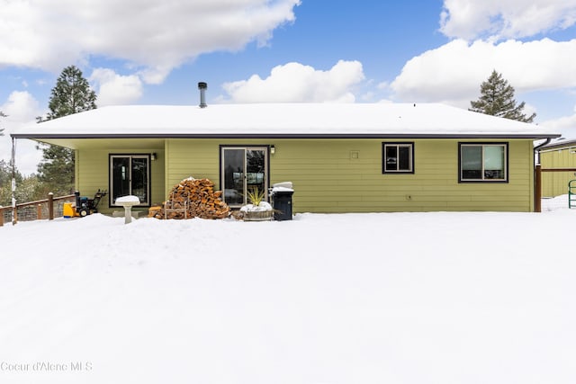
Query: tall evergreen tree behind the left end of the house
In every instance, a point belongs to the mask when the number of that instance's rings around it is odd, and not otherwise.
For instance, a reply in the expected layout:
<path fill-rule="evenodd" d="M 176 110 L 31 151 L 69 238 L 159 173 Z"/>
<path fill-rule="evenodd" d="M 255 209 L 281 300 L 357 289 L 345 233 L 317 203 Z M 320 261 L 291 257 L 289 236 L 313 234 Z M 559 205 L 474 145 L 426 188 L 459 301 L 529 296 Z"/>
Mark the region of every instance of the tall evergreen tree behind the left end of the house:
<path fill-rule="evenodd" d="M 49 100 L 49 113 L 45 119 L 58 119 L 77 112 L 96 108 L 96 94 L 82 71 L 75 66 L 64 68 L 52 88 Z M 38 165 L 40 182 L 46 183 L 55 195 L 74 192 L 74 151 L 54 145 L 40 145 L 42 161 Z"/>

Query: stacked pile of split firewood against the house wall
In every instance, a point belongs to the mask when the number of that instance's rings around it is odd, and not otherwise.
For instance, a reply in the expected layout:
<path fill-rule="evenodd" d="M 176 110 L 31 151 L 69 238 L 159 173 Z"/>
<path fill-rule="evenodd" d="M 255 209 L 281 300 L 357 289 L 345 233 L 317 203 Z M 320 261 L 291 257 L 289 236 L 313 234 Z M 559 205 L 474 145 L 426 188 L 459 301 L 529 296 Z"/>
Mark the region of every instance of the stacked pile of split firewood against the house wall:
<path fill-rule="evenodd" d="M 163 205 L 149 209 L 148 218 L 224 219 L 230 214 L 228 204 L 220 199 L 222 192 L 214 191 L 214 183 L 209 179 L 184 179 L 168 196 Z"/>

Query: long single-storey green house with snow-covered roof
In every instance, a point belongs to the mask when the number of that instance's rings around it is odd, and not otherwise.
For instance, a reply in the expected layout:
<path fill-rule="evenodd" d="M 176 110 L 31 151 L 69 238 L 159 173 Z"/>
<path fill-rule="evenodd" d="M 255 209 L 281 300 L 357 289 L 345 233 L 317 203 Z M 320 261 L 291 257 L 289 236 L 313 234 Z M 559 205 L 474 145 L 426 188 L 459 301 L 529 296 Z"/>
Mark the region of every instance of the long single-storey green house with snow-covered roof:
<path fill-rule="evenodd" d="M 189 176 L 232 207 L 290 181 L 294 212 L 372 212 L 532 211 L 533 141 L 559 135 L 436 103 L 255 103 L 109 106 L 12 136 L 74 149 L 76 188 L 107 189 L 103 212 Z"/>

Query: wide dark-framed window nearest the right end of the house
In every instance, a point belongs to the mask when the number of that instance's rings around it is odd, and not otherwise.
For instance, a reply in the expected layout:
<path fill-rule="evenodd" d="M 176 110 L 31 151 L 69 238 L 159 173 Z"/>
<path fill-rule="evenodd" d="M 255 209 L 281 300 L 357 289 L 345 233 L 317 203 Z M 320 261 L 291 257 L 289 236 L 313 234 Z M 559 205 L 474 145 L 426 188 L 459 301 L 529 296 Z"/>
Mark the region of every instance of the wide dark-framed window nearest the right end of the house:
<path fill-rule="evenodd" d="M 508 182 L 508 144 L 460 143 L 459 182 Z"/>

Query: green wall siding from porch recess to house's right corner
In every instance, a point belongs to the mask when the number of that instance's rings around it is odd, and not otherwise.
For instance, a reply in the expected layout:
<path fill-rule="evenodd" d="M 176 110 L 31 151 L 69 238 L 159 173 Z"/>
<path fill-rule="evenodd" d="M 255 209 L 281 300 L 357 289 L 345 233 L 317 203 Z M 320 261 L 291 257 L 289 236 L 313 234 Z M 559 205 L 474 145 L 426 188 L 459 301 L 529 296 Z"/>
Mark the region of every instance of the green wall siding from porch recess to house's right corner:
<path fill-rule="evenodd" d="M 271 183 L 294 183 L 297 212 L 533 210 L 531 140 L 509 140 L 509 183 L 458 183 L 458 141 L 449 139 L 414 140 L 415 173 L 382 174 L 382 142 L 170 139 L 166 193 L 189 176 L 210 178 L 219 187 L 220 145 L 275 145 Z"/>

